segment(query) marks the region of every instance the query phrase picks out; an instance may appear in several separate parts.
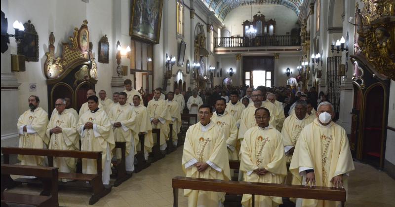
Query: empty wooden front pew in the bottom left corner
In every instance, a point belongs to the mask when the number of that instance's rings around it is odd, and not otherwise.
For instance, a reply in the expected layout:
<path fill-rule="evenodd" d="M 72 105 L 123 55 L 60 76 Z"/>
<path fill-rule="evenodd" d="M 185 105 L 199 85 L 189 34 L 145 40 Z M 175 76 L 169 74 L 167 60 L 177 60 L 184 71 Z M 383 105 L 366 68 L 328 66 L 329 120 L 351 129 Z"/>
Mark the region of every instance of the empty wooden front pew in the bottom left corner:
<path fill-rule="evenodd" d="M 13 175 L 36 176 L 43 183 L 40 195 L 4 192 L 15 186 Z M 43 193 L 45 192 L 45 193 Z M 47 196 L 43 194 L 48 194 Z M 1 164 L 1 206 L 6 203 L 31 205 L 36 207 L 59 207 L 58 169 L 52 167 Z"/>

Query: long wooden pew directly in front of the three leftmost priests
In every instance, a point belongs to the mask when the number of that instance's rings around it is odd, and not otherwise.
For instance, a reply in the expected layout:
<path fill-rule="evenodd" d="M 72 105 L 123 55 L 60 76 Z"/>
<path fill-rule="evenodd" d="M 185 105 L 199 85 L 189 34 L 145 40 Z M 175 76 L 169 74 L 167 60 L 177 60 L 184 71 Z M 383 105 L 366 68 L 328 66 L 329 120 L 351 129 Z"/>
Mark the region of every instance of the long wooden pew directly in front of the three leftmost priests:
<path fill-rule="evenodd" d="M 106 196 L 111 192 L 111 186 L 103 185 L 102 180 L 102 152 L 95 151 L 78 151 L 78 150 L 53 150 L 53 149 L 34 149 L 34 148 L 18 148 L 18 147 L 1 147 L 1 153 L 3 153 L 4 163 L 9 164 L 9 155 L 35 155 L 35 156 L 47 156 L 48 165 L 53 167 L 53 157 L 72 157 L 81 159 L 95 159 L 97 166 L 96 174 L 82 174 L 82 173 L 59 173 L 61 179 L 73 179 L 79 180 L 77 182 L 60 183 L 64 186 L 77 187 L 77 188 L 89 188 L 92 190 L 92 196 L 89 199 L 89 205 L 93 205 L 100 198 Z M 18 178 L 15 181 L 29 182 L 30 179 Z M 90 185 L 86 185 L 89 182 Z"/>

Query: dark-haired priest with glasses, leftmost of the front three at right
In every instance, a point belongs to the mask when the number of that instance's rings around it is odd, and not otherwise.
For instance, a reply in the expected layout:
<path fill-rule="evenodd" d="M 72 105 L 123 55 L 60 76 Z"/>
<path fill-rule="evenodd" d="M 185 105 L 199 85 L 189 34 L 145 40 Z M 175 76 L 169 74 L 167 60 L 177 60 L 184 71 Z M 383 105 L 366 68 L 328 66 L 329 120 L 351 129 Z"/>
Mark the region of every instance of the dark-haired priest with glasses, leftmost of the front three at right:
<path fill-rule="evenodd" d="M 182 168 L 187 177 L 230 180 L 226 140 L 222 129 L 210 121 L 212 108 L 198 108 L 200 121 L 189 127 L 182 155 Z M 189 207 L 222 206 L 225 193 L 184 190 Z"/>

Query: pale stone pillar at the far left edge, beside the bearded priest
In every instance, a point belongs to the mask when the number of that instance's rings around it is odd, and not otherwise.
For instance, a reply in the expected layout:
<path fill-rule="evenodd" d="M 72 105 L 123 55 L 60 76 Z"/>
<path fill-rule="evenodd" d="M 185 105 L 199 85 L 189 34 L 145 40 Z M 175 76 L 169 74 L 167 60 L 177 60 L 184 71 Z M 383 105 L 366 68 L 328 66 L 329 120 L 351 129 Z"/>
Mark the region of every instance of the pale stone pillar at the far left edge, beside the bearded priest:
<path fill-rule="evenodd" d="M 1 1 L 1 11 L 8 16 L 8 1 Z M 9 21 L 9 18 L 8 18 Z M 8 22 L 8 25 L 12 22 Z M 8 31 L 13 34 L 13 31 Z M 9 38 L 11 44 L 14 44 L 15 38 Z M 16 129 L 19 115 L 19 85 L 18 80 L 11 72 L 11 44 L 8 50 L 1 53 L 1 146 L 18 146 L 19 136 Z M 28 97 L 26 97 L 27 100 Z M 26 101 L 27 104 L 27 101 Z"/>

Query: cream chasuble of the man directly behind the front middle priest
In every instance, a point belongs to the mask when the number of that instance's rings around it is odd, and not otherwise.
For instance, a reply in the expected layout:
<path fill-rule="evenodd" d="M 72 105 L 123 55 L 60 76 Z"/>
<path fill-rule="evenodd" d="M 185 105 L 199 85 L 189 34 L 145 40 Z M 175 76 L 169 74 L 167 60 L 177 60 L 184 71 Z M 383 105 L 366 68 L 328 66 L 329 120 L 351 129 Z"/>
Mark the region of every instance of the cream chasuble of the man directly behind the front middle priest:
<path fill-rule="evenodd" d="M 265 107 L 270 112 L 269 124 L 276 128 L 276 105 L 271 102 L 262 102 L 261 106 Z M 242 112 L 240 118 L 240 128 L 238 129 L 238 139 L 242 139 L 244 133 L 251 127 L 257 126 L 255 121 L 255 108 L 254 103 L 249 104 Z"/>

